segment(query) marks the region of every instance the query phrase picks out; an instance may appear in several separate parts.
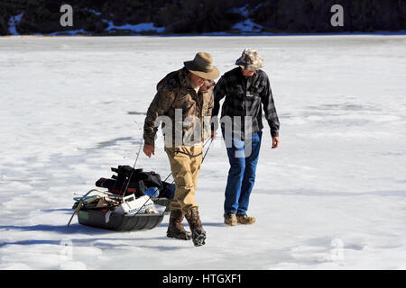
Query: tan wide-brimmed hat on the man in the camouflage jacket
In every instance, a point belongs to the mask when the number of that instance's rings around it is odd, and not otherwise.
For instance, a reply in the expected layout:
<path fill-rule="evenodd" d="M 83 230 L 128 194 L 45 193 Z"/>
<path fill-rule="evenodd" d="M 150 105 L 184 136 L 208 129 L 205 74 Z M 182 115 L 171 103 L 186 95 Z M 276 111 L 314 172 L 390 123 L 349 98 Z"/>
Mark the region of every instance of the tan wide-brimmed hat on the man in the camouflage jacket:
<path fill-rule="evenodd" d="M 217 67 L 213 65 L 213 58 L 206 52 L 198 52 L 193 60 L 185 61 L 183 64 L 194 75 L 208 80 L 214 80 L 220 76 Z"/>

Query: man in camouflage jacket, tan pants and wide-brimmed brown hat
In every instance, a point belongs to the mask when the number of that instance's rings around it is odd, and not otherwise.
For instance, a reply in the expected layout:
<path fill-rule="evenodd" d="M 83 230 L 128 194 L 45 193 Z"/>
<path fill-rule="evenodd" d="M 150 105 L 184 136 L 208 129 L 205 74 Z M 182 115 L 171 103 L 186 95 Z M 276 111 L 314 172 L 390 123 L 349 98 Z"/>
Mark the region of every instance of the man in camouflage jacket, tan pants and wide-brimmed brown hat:
<path fill-rule="evenodd" d="M 143 152 L 154 154 L 154 139 L 159 122 L 165 137 L 165 151 L 176 184 L 175 197 L 171 202 L 170 238 L 193 239 L 195 246 L 205 244 L 206 231 L 198 216 L 195 193 L 198 171 L 202 161 L 203 140 L 206 136 L 204 121 L 210 121 L 214 104 L 214 79 L 219 76 L 212 57 L 199 52 L 185 67 L 171 72 L 157 85 L 143 127 Z M 191 235 L 181 223 L 186 216 Z"/>

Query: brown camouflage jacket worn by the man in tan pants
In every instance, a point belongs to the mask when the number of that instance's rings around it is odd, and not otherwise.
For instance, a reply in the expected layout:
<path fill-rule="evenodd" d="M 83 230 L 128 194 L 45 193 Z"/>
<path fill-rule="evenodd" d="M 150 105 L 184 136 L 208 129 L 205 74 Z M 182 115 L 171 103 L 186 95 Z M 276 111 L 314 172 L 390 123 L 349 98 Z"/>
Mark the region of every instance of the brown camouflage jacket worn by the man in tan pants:
<path fill-rule="evenodd" d="M 160 122 L 166 147 L 189 146 L 187 143 L 190 141 L 198 143 L 208 137 L 210 130 L 208 123 L 214 106 L 215 82 L 206 81 L 196 93 L 189 85 L 187 75 L 188 70 L 183 67 L 171 72 L 158 83 L 157 93 L 148 108 L 143 125 L 143 139 L 146 145 L 154 145 Z M 194 121 L 189 121 L 191 119 Z"/>

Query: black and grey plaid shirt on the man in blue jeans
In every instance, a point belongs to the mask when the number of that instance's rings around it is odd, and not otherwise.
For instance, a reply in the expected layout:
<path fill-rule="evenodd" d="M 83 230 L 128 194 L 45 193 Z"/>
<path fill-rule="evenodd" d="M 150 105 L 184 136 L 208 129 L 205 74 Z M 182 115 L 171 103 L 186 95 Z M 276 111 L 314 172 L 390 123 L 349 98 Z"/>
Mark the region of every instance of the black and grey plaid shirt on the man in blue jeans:
<path fill-rule="evenodd" d="M 246 116 L 252 117 L 252 135 L 263 129 L 262 103 L 272 137 L 279 136 L 280 122 L 273 102 L 269 78 L 263 70 L 256 70 L 254 76 L 246 77 L 241 73 L 240 67 L 235 67 L 218 80 L 214 96 L 212 117 L 218 115 L 220 101 L 226 97 L 221 110 L 221 118 L 224 116 L 242 118 L 242 125 L 233 124 L 234 135 L 241 135 L 242 138 L 249 137 L 245 134 Z M 224 127 L 223 123 L 222 127 Z"/>

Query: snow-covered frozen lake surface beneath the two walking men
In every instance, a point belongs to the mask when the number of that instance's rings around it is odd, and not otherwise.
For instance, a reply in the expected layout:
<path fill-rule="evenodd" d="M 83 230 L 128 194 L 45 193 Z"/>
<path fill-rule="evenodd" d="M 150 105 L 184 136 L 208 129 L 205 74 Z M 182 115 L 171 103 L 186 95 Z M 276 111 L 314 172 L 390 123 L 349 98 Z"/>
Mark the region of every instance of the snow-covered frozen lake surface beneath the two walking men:
<path fill-rule="evenodd" d="M 405 269 L 406 37 L 0 38 L 1 269 Z M 265 124 L 249 213 L 226 227 L 216 139 L 197 201 L 204 247 L 66 224 L 73 193 L 133 165 L 155 84 L 198 51 L 222 73 L 259 49 L 281 120 Z M 137 166 L 169 174 L 161 138 Z"/>

